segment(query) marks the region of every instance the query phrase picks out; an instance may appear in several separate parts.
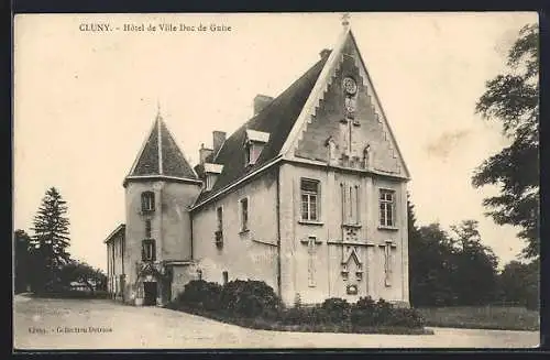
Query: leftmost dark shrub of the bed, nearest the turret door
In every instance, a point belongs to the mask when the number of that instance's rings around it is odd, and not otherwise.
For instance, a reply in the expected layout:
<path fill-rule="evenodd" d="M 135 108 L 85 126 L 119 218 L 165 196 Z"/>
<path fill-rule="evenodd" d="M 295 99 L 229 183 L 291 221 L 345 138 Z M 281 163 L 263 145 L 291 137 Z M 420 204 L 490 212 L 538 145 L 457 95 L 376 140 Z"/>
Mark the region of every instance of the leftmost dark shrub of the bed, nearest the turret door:
<path fill-rule="evenodd" d="M 187 283 L 175 299 L 175 304 L 182 304 L 194 308 L 217 310 L 220 306 L 221 286 L 204 280 L 193 280 Z"/>

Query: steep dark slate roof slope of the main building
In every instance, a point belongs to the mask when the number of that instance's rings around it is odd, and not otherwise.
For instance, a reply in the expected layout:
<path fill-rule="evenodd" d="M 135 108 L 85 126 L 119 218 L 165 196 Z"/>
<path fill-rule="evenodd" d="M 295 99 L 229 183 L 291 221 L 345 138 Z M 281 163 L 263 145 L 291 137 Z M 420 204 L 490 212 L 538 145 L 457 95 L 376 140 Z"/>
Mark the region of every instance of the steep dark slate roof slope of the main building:
<path fill-rule="evenodd" d="M 246 174 L 261 167 L 278 155 L 285 143 L 296 119 L 298 118 L 306 100 L 311 92 L 319 74 L 321 73 L 328 56 L 324 56 L 311 68 L 309 68 L 290 87 L 276 97 L 260 113 L 246 121 L 241 128 L 233 132 L 216 154 L 209 156 L 207 162 L 222 164 L 223 171 L 218 176 L 210 192 L 202 192 L 195 204 L 202 203 L 213 196 L 219 189 L 231 185 Z M 256 163 L 252 166 L 244 165 L 244 141 L 246 129 L 270 133 L 270 141 L 265 144 Z M 200 166 L 199 166 L 200 167 Z M 199 170 L 199 168 L 197 168 Z"/>

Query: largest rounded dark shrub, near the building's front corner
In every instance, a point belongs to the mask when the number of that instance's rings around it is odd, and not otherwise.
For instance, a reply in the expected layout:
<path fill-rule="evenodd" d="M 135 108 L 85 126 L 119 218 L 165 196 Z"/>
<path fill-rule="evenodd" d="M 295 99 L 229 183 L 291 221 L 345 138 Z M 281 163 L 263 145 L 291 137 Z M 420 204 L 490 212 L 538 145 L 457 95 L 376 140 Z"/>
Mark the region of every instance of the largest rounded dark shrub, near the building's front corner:
<path fill-rule="evenodd" d="M 234 280 L 223 286 L 220 306 L 237 316 L 274 318 L 280 308 L 280 299 L 263 281 Z"/>

